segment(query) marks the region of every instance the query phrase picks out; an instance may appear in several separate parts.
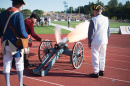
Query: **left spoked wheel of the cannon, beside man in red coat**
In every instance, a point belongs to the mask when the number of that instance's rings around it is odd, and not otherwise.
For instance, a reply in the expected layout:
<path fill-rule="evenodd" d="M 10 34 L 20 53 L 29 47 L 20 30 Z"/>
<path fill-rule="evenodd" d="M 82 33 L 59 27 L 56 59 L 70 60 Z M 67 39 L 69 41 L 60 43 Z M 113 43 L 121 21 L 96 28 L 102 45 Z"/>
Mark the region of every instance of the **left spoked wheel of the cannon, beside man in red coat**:
<path fill-rule="evenodd" d="M 52 42 L 50 42 L 48 39 L 41 42 L 38 50 L 38 57 L 41 62 L 45 59 L 46 55 L 49 53 L 50 48 L 53 48 L 53 46 Z"/>

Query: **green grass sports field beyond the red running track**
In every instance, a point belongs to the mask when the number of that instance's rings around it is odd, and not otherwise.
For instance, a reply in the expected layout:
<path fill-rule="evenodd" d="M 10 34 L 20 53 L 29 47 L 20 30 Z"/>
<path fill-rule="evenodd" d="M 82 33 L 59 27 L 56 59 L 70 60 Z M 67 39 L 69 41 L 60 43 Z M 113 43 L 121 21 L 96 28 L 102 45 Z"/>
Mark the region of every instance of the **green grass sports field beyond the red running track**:
<path fill-rule="evenodd" d="M 67 21 L 51 21 L 51 23 L 59 24 L 63 26 L 68 26 Z M 75 27 L 77 24 L 81 23 L 81 21 L 71 21 L 70 27 Z M 111 28 L 119 28 L 120 26 L 130 26 L 130 23 L 124 23 L 124 22 L 110 22 Z M 54 34 L 54 26 L 49 27 L 34 27 L 34 30 L 36 34 Z M 61 30 L 61 34 L 68 34 L 70 31 L 68 30 Z"/>

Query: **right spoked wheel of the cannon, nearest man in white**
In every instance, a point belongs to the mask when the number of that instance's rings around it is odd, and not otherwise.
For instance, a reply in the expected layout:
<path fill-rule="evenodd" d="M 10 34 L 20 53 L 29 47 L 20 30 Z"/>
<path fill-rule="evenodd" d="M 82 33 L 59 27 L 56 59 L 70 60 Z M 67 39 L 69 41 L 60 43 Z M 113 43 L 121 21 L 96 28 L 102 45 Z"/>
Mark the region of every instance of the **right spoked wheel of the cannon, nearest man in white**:
<path fill-rule="evenodd" d="M 84 56 L 84 49 L 81 42 L 75 43 L 72 50 L 72 65 L 75 69 L 78 69 L 82 62 Z"/>

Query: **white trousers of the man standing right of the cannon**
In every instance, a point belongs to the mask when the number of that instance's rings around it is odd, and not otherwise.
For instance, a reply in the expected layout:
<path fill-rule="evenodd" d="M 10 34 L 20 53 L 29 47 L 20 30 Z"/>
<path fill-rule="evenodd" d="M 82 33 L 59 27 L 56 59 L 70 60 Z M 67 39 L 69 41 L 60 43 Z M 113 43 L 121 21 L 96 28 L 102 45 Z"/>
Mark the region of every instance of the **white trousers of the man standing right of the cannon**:
<path fill-rule="evenodd" d="M 105 70 L 106 49 L 107 44 L 91 45 L 91 60 L 95 74 L 97 74 L 99 70 Z"/>

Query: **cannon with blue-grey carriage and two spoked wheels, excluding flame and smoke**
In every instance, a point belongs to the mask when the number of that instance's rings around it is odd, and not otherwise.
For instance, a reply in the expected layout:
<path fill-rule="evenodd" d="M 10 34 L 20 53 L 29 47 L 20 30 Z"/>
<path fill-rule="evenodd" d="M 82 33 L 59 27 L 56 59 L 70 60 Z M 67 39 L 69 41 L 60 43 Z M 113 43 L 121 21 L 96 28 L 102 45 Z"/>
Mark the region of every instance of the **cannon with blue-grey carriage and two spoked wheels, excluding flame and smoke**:
<path fill-rule="evenodd" d="M 69 40 L 65 37 L 62 42 L 56 43 L 54 47 L 52 45 L 54 41 L 45 40 L 41 42 L 38 50 L 41 64 L 33 69 L 33 74 L 45 76 L 62 54 L 70 56 L 70 62 L 73 67 L 78 69 L 83 62 L 83 45 L 81 42 L 76 42 L 73 49 L 70 50 L 67 45 L 68 41 Z"/>

